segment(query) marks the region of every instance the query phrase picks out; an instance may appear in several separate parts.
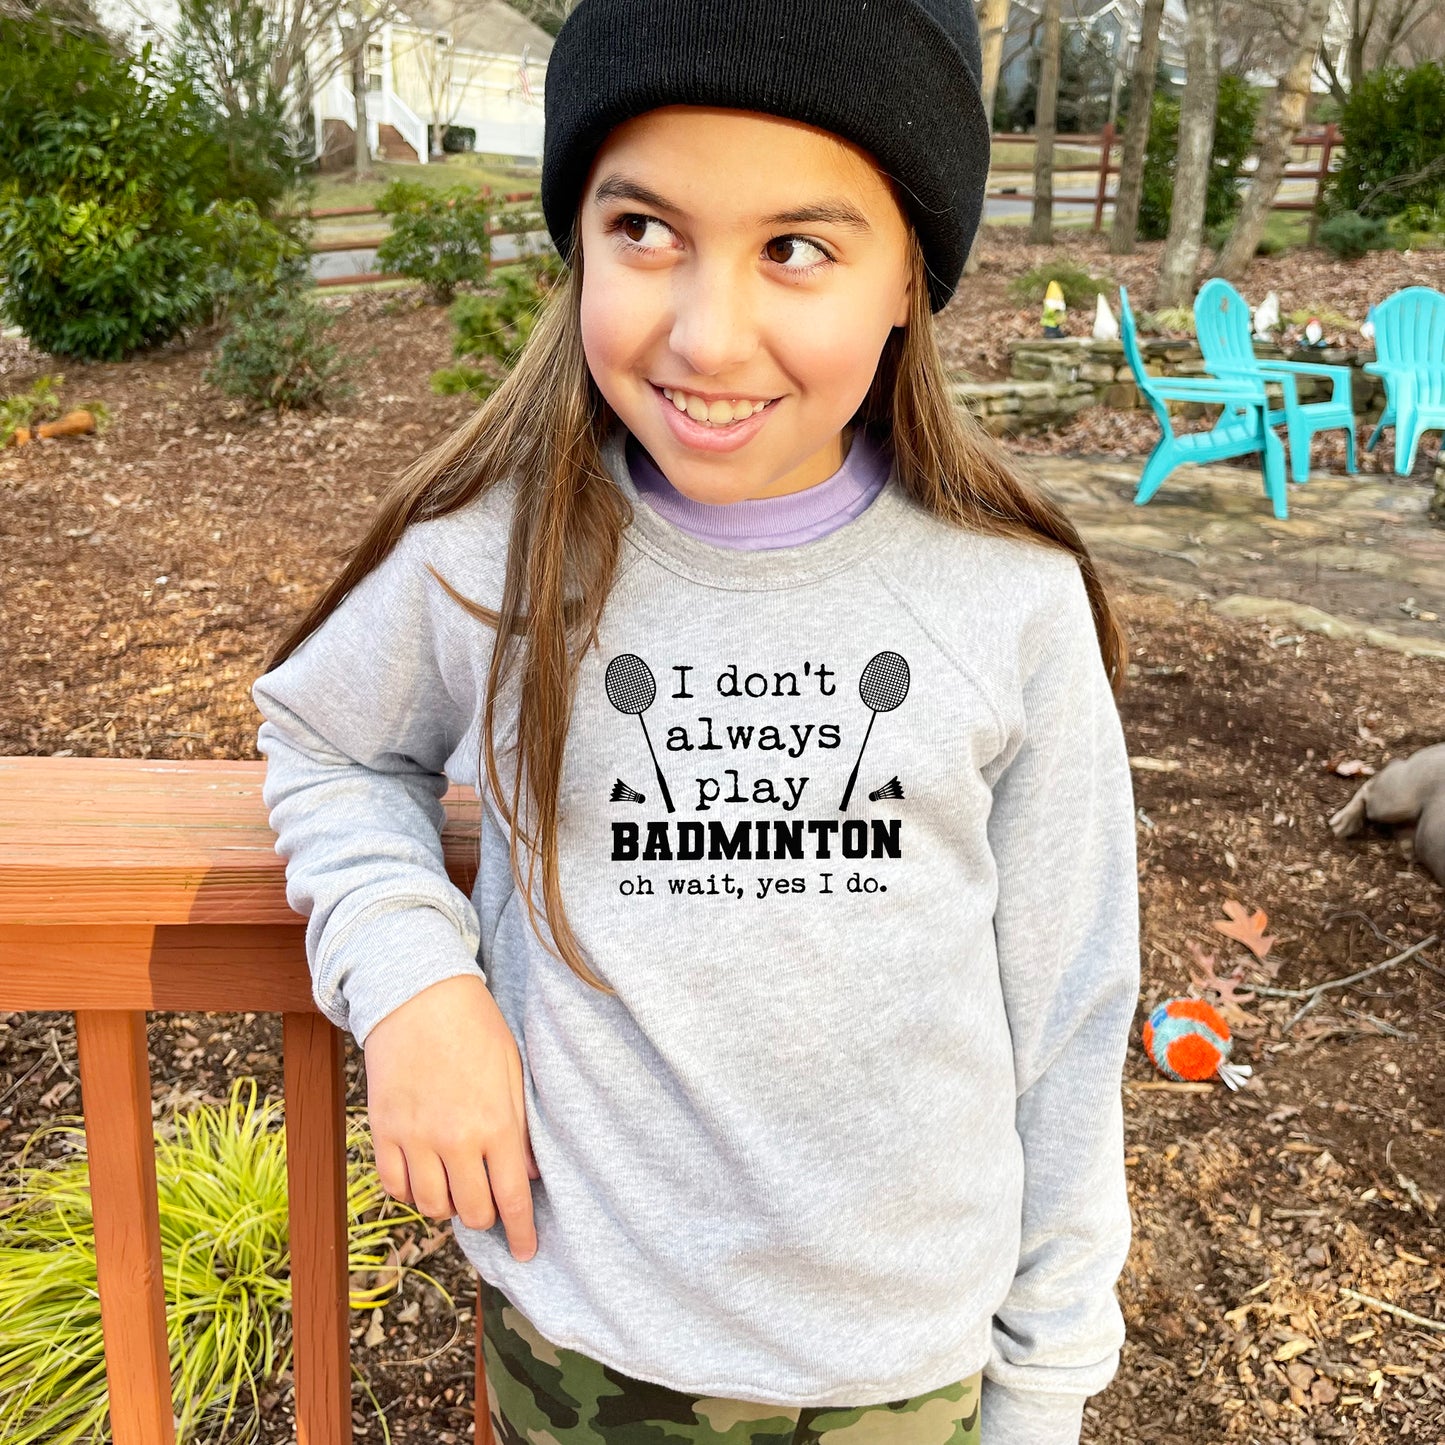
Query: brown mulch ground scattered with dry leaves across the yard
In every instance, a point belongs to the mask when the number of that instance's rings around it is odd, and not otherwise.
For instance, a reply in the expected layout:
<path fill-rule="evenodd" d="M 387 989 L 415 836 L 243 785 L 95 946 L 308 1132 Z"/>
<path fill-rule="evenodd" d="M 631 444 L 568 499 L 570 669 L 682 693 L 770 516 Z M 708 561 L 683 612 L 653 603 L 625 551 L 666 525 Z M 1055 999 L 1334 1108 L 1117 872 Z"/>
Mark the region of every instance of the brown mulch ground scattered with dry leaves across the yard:
<path fill-rule="evenodd" d="M 1013 270 L 1032 264 L 1012 233 L 996 244 Z M 1283 279 L 1261 272 L 1251 295 L 1266 282 L 1287 309 Z M 444 312 L 409 293 L 334 303 L 337 340 L 361 357 L 358 392 L 334 413 L 234 413 L 199 380 L 201 340 L 95 367 L 0 345 L 0 392 L 64 370 L 66 402 L 98 396 L 116 418 L 97 438 L 0 454 L 0 751 L 257 756 L 249 688 L 266 652 L 335 574 L 380 486 L 468 413 L 426 387 L 449 360 Z M 1166 1085 L 1136 1033 L 1129 1341 L 1084 1438 L 1445 1439 L 1445 1329 L 1342 1293 L 1445 1327 L 1445 945 L 1305 1012 L 1308 997 L 1259 991 L 1445 935 L 1445 894 L 1406 838 L 1341 842 L 1325 825 L 1361 769 L 1445 737 L 1445 668 L 1114 582 L 1133 640 L 1121 705 L 1140 819 L 1139 1023 L 1212 980 L 1254 1074 L 1240 1092 Z M 1266 920 L 1234 926 L 1233 905 Z M 280 1094 L 276 1019 L 153 1014 L 149 1030 L 158 1101 L 223 1101 L 238 1072 Z M 361 1062 L 348 1040 L 355 1107 Z M 0 1016 L 0 1157 L 78 1107 L 69 1016 Z M 438 1241 L 397 1243 L 409 1257 Z M 397 1445 L 470 1436 L 473 1274 L 441 1243 L 422 1267 L 455 1308 L 409 1279 L 380 1328 L 353 1319 Z M 360 1389 L 355 1402 L 357 1436 L 381 1439 Z M 267 1403 L 260 1439 L 292 1439 L 286 1380 Z"/>

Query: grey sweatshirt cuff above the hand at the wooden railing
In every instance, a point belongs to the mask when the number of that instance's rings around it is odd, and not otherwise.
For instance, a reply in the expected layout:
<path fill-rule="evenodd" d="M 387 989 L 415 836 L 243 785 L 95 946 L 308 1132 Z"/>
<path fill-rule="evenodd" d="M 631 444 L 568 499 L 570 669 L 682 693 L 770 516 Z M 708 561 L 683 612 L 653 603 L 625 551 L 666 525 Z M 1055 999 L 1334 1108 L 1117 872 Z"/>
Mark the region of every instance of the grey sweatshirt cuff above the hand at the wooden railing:
<path fill-rule="evenodd" d="M 444 978 L 487 975 L 457 925 L 429 905 L 358 919 L 328 959 L 316 1007 L 358 1045 L 392 1012 Z"/>

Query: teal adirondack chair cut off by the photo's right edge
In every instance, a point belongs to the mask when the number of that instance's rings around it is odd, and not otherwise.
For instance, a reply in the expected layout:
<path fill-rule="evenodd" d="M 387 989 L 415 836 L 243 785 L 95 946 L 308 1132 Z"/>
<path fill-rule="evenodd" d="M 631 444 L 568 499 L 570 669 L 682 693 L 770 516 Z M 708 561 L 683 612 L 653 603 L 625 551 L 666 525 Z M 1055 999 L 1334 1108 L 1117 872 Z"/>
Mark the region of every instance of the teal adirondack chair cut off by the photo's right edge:
<path fill-rule="evenodd" d="M 1384 377 L 1384 413 L 1370 434 L 1373 451 L 1394 428 L 1394 470 L 1407 477 L 1425 432 L 1445 428 L 1445 295 L 1406 286 L 1370 311 L 1374 360 L 1366 371 Z"/>

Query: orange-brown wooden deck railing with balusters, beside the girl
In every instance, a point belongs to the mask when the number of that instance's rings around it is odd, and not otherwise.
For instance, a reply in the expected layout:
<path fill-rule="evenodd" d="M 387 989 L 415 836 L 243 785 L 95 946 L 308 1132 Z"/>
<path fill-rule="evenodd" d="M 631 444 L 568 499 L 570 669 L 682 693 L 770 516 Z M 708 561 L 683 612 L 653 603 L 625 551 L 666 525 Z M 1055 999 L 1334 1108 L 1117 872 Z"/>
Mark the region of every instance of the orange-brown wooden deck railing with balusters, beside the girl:
<path fill-rule="evenodd" d="M 0 757 L 0 1010 L 75 1014 L 111 1436 L 173 1445 L 146 1012 L 279 1013 L 298 1445 L 350 1445 L 344 1036 L 315 1007 L 263 762 Z M 477 795 L 442 841 L 475 876 Z M 475 1441 L 491 1445 L 475 1302 Z"/>

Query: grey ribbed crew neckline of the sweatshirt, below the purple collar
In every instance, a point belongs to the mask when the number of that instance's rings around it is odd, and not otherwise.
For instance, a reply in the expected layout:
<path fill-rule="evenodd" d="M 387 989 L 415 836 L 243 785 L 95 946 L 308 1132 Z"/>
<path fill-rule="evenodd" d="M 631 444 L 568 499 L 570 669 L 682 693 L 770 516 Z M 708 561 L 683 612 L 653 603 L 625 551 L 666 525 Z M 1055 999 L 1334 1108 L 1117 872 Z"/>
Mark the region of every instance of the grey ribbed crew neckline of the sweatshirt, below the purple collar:
<path fill-rule="evenodd" d="M 627 539 L 656 562 L 709 587 L 773 591 L 805 587 L 850 566 L 879 548 L 902 522 L 909 501 L 897 481 L 897 457 L 877 496 L 850 522 L 793 546 L 740 551 L 695 538 L 653 509 L 639 491 L 627 460 L 627 428 L 617 422 L 601 445 L 603 465 L 631 504 Z M 773 499 L 754 499 L 773 500 Z M 746 503 L 734 503 L 737 506 Z"/>

